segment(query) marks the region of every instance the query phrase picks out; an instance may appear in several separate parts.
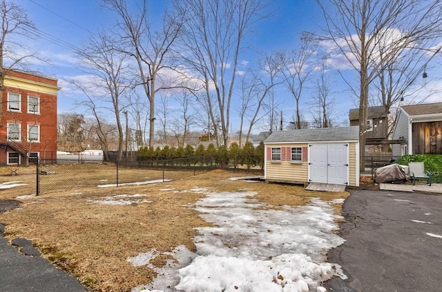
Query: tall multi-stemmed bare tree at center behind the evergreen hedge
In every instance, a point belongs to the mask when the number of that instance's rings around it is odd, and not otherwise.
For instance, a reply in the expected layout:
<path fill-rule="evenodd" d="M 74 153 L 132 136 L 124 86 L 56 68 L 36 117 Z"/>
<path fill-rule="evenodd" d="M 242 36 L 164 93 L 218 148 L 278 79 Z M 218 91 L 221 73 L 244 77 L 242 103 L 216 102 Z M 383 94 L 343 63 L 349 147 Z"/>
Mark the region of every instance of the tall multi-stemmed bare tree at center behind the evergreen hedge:
<path fill-rule="evenodd" d="M 253 24 L 263 18 L 262 0 L 177 0 L 177 12 L 186 16 L 180 43 L 182 58 L 204 84 L 209 115 L 218 136 L 220 118 L 222 144 L 228 145 L 231 100 L 244 39 Z M 216 107 L 212 104 L 215 96 Z M 218 139 L 217 139 L 218 141 Z"/>

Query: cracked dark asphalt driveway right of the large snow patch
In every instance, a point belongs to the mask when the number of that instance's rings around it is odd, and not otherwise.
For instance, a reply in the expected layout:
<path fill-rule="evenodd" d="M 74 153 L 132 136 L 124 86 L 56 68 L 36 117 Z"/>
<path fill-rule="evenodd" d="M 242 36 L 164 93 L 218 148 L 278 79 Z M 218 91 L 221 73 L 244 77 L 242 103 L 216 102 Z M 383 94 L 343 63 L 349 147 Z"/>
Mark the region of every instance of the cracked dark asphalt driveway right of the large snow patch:
<path fill-rule="evenodd" d="M 351 191 L 340 225 L 346 242 L 329 252 L 347 280 L 327 291 L 442 291 L 442 196 Z"/>

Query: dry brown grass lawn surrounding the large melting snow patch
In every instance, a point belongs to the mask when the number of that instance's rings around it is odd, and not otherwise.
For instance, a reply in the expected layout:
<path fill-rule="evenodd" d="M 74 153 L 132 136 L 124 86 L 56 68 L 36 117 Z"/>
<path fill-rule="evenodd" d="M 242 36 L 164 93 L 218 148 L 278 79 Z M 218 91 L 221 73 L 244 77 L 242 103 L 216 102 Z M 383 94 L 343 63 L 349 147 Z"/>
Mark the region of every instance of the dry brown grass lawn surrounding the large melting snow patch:
<path fill-rule="evenodd" d="M 151 249 L 171 251 L 180 244 L 194 251 L 195 227 L 208 225 L 198 212 L 186 207 L 204 194 L 176 193 L 164 188 L 179 191 L 198 186 L 216 191 L 256 191 L 258 194 L 253 198 L 267 202 L 274 209 L 303 205 L 312 196 L 323 200 L 348 196 L 305 191 L 294 185 L 225 180 L 241 175 L 211 171 L 157 185 L 90 188 L 82 189 L 81 194 L 57 191 L 23 200 L 20 209 L 1 213 L 0 222 L 6 223 L 7 238 L 29 238 L 45 258 L 75 275 L 91 290 L 129 291 L 133 286 L 151 282 L 155 271 L 146 266 L 134 267 L 127 258 Z M 21 193 L 19 189 L 0 190 L 0 199 L 15 198 Z M 145 194 L 142 199 L 152 202 L 123 206 L 90 202 L 115 194 Z M 164 260 L 157 258 L 151 263 L 161 266 Z"/>

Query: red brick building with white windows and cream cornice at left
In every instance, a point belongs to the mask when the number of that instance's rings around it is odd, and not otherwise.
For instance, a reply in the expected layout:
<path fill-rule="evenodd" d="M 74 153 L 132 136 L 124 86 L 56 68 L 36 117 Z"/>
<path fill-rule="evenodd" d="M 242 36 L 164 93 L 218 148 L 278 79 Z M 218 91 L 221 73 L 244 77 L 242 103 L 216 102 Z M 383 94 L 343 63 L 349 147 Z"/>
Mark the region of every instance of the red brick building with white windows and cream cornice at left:
<path fill-rule="evenodd" d="M 6 71 L 0 116 L 0 164 L 19 165 L 57 152 L 57 79 Z"/>

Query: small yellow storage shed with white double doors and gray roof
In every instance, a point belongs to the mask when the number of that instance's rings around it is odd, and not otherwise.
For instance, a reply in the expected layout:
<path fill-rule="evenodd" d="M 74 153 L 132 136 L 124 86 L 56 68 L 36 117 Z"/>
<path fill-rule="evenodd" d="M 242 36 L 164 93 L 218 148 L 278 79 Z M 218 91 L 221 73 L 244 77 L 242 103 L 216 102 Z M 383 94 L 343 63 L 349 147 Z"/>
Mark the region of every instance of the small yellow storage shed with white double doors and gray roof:
<path fill-rule="evenodd" d="M 265 141 L 265 180 L 359 185 L 359 127 L 273 132 Z"/>

